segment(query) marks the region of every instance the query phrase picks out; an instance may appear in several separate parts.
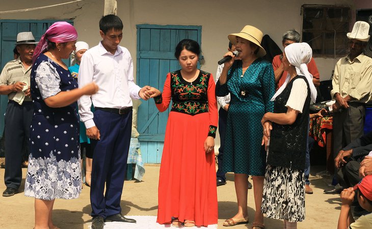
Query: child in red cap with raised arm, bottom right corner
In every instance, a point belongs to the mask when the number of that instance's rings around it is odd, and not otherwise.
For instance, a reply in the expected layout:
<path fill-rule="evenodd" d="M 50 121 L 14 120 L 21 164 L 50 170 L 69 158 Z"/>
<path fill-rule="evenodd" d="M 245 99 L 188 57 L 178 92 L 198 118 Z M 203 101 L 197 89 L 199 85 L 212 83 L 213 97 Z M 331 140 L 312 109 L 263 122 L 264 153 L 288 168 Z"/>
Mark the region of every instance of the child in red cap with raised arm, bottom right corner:
<path fill-rule="evenodd" d="M 372 213 L 362 215 L 357 221 L 354 221 L 350 205 L 354 200 L 355 190 L 359 205 L 366 211 L 372 212 L 372 175 L 369 175 L 364 177 L 354 188 L 343 189 L 341 192 L 342 205 L 337 229 L 372 228 Z"/>

